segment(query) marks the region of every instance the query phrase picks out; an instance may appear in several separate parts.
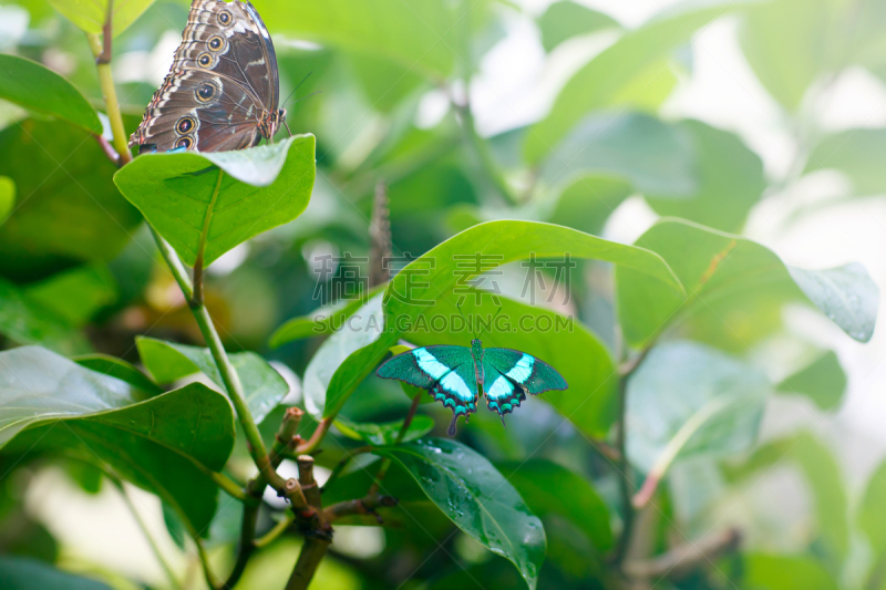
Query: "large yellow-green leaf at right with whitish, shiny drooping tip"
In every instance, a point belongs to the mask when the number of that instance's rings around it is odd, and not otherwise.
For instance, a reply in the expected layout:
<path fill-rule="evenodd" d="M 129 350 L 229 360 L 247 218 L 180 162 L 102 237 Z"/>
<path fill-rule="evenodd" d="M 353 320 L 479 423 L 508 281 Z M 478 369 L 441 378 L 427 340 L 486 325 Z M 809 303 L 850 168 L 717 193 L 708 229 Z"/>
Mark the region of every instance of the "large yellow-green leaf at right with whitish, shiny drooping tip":
<path fill-rule="evenodd" d="M 689 296 L 683 299 L 659 281 L 618 267 L 619 319 L 632 345 L 680 323 L 697 340 L 746 346 L 777 328 L 787 301 L 811 301 L 856 340 L 866 342 L 872 335 L 876 286 L 855 265 L 789 272 L 775 253 L 756 242 L 671 219 L 652 226 L 636 245 L 661 255 Z"/>

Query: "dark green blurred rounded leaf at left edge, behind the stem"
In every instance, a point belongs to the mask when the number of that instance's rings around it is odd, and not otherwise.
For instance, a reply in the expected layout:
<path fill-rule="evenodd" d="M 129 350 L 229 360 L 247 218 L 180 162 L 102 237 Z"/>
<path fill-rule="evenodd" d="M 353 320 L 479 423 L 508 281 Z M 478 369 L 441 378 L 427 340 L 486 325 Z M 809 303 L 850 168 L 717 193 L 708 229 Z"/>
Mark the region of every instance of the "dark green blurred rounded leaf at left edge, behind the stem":
<path fill-rule="evenodd" d="M 0 231 L 0 273 L 43 278 L 109 261 L 142 222 L 111 180 L 116 166 L 72 125 L 27 120 L 0 132 L 0 176 L 21 198 Z"/>

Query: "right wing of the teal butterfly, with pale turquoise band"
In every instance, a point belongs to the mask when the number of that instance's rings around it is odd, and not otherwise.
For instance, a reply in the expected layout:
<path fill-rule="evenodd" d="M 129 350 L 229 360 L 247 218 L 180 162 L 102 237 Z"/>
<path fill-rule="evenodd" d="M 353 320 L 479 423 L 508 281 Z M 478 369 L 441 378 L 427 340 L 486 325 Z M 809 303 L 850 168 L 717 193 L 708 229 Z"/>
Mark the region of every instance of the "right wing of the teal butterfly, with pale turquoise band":
<path fill-rule="evenodd" d="M 568 387 L 556 369 L 518 350 L 483 349 L 483 391 L 486 407 L 505 414 L 516 410 L 526 394 L 538 395 Z"/>

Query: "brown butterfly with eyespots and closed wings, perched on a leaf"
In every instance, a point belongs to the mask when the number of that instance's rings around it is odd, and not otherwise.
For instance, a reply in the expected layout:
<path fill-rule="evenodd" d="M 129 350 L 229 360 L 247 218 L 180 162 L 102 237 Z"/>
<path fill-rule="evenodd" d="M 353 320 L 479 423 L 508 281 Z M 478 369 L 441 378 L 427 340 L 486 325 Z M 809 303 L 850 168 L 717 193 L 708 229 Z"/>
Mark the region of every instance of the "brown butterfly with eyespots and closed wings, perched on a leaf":
<path fill-rule="evenodd" d="M 140 154 L 251 147 L 286 124 L 279 100 L 274 43 L 253 4 L 194 0 L 173 66 L 130 147 Z"/>

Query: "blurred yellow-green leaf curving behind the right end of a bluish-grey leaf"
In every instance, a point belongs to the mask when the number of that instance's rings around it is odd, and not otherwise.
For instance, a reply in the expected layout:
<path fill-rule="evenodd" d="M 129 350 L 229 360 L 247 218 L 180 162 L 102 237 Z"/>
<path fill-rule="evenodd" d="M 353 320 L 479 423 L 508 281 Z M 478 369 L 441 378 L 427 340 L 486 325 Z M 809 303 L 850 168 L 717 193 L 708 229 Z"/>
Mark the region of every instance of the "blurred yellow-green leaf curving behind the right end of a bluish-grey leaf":
<path fill-rule="evenodd" d="M 647 201 L 660 215 L 738 231 L 766 186 L 760 156 L 734 134 L 700 121 L 683 121 L 676 124 L 674 130 L 691 139 L 696 190 L 690 198 L 659 190 L 646 192 Z"/>

